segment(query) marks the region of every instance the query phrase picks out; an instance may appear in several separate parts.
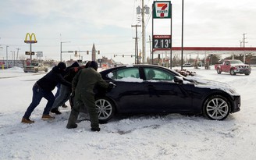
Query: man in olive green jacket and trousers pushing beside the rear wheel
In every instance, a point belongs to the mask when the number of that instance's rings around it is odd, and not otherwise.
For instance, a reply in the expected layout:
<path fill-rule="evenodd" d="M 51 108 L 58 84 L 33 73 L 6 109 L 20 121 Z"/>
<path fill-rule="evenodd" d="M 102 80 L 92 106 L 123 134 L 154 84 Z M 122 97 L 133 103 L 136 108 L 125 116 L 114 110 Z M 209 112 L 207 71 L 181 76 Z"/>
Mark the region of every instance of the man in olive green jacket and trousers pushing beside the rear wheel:
<path fill-rule="evenodd" d="M 69 116 L 69 122 L 66 128 L 76 128 L 76 119 L 80 111 L 80 107 L 86 105 L 91 120 L 91 130 L 100 131 L 98 123 L 98 111 L 94 100 L 94 86 L 100 85 L 104 88 L 112 88 L 112 84 L 108 84 L 102 79 L 101 74 L 97 72 L 98 63 L 91 61 L 87 69 L 81 69 L 72 81 L 72 89 L 75 91 L 74 106 Z"/>

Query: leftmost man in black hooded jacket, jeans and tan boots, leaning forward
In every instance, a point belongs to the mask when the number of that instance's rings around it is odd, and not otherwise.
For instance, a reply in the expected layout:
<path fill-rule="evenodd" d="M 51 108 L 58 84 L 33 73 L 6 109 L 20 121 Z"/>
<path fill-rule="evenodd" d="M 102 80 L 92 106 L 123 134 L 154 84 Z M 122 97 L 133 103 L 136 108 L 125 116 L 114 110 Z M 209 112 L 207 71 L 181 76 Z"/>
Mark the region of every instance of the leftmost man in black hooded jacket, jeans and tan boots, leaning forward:
<path fill-rule="evenodd" d="M 52 90 L 56 87 L 57 84 L 64 84 L 66 86 L 71 86 L 71 84 L 64 80 L 62 77 L 62 72 L 65 72 L 66 64 L 64 62 L 59 62 L 58 66 L 54 66 L 51 72 L 47 73 L 43 76 L 40 80 L 34 84 L 33 87 L 33 98 L 30 106 L 27 108 L 23 119 L 21 120 L 22 123 L 34 123 L 33 120 L 30 120 L 31 113 L 34 111 L 34 108 L 39 105 L 42 98 L 48 100 L 42 119 L 43 120 L 51 120 L 55 117 L 49 115 L 49 112 L 52 108 L 52 105 L 55 101 L 55 97 L 52 94 Z"/>

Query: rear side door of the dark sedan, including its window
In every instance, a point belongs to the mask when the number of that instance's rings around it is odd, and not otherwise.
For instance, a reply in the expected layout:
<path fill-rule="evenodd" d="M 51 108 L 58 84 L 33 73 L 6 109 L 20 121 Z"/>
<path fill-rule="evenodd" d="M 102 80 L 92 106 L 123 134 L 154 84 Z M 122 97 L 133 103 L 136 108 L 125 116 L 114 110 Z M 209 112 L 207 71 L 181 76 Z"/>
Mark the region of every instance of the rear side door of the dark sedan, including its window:
<path fill-rule="evenodd" d="M 116 101 L 119 112 L 140 112 L 144 104 L 144 86 L 137 67 L 125 67 L 112 72 L 116 87 L 111 96 Z"/>

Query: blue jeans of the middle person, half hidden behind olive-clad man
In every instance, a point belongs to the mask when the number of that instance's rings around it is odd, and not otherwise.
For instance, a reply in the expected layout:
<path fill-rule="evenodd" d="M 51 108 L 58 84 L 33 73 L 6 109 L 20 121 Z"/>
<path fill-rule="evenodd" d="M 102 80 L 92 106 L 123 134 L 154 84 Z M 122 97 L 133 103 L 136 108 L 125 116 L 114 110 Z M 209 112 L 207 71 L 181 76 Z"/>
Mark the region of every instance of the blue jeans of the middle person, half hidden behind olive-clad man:
<path fill-rule="evenodd" d="M 60 90 L 59 90 L 59 96 L 55 98 L 52 108 L 58 108 L 59 106 L 64 105 L 65 102 L 69 100 L 71 92 L 72 92 L 71 87 L 67 87 L 61 84 Z"/>

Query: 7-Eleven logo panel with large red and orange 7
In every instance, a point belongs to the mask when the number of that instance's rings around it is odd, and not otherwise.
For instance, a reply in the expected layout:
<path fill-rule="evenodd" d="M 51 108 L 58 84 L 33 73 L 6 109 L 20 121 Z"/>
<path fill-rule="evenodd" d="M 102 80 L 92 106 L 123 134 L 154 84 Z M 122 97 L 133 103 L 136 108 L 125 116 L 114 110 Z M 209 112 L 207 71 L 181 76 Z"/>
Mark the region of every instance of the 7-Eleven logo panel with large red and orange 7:
<path fill-rule="evenodd" d="M 155 2 L 155 16 L 157 18 L 170 18 L 169 2 Z"/>

